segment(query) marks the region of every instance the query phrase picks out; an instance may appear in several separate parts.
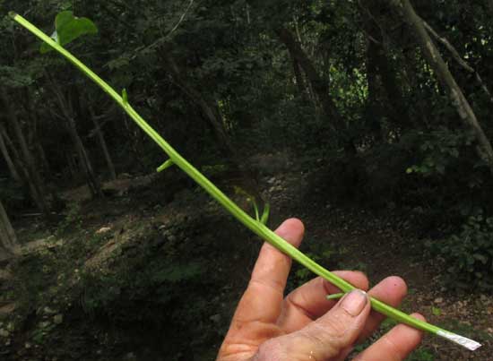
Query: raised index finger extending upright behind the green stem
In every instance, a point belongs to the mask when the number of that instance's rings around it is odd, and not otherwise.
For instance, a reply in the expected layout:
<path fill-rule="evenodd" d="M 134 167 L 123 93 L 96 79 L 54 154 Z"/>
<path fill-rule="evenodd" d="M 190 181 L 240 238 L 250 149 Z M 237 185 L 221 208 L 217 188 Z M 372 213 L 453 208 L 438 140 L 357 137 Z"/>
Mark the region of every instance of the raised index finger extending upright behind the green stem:
<path fill-rule="evenodd" d="M 287 219 L 276 229 L 275 233 L 291 245 L 298 247 L 304 231 L 303 223 L 299 219 Z M 262 246 L 255 262 L 252 278 L 233 316 L 231 328 L 238 323 L 255 321 L 274 323 L 277 321 L 281 314 L 284 288 L 290 268 L 289 256 L 282 254 L 267 243 Z"/>

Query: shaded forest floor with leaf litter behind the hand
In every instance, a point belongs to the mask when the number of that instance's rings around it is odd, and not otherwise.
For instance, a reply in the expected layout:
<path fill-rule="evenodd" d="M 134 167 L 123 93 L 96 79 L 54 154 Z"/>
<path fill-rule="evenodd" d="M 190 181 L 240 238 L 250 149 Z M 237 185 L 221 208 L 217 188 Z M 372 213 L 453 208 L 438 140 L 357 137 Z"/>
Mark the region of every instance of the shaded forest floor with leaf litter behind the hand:
<path fill-rule="evenodd" d="M 299 169 L 264 176 L 271 224 L 302 219 L 302 250 L 323 254 L 327 268 L 365 271 L 374 284 L 401 276 L 409 286 L 404 311 L 484 345 L 472 353 L 428 336 L 411 360 L 491 359 L 493 297 L 445 287 L 445 265 L 427 256 L 417 220 L 336 205 L 316 188 L 307 192 L 308 176 Z M 260 242 L 232 242 L 251 236 L 193 187 L 177 186 L 170 196 L 175 187 L 153 177 L 105 186 L 112 195 L 103 200 L 87 199 L 83 188 L 66 193 L 71 206 L 56 228 L 17 225 L 25 247 L 0 274 L 0 358 L 213 360 Z M 289 287 L 310 277 L 295 265 Z M 378 334 L 390 327 L 385 322 Z"/>

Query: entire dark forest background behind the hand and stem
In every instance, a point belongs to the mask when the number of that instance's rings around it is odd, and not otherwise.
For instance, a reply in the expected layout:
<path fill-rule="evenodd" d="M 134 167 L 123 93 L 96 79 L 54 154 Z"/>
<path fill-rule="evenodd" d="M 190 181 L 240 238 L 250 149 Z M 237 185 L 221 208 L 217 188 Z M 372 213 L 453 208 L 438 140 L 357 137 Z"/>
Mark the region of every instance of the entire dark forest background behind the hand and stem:
<path fill-rule="evenodd" d="M 493 1 L 2 0 L 0 355 L 213 359 L 260 245 L 10 10 L 91 19 L 66 47 L 245 210 L 491 345 Z M 412 359 L 490 355 L 451 348 Z"/>

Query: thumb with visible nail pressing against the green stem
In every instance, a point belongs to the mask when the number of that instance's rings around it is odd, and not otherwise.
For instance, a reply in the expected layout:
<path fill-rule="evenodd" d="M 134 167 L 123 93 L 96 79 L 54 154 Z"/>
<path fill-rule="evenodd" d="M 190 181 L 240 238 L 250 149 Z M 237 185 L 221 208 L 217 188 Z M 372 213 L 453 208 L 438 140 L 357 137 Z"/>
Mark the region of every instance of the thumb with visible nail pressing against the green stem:
<path fill-rule="evenodd" d="M 370 309 L 368 295 L 353 290 L 304 329 L 265 342 L 254 359 L 327 360 L 346 356 L 358 340 Z"/>

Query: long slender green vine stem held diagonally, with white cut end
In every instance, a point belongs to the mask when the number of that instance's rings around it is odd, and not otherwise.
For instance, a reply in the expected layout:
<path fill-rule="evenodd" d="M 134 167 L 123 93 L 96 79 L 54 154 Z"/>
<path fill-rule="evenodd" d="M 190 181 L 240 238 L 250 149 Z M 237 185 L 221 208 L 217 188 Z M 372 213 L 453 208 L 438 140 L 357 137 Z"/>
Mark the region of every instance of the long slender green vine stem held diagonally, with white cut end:
<path fill-rule="evenodd" d="M 264 226 L 261 221 L 259 221 L 258 219 L 253 219 L 245 211 L 239 208 L 235 202 L 231 201 L 226 194 L 222 193 L 218 187 L 213 185 L 209 179 L 203 176 L 201 172 L 199 172 L 186 159 L 184 159 L 177 152 L 177 150 L 174 150 L 173 147 L 171 147 L 169 143 L 160 136 L 159 133 L 152 129 L 151 125 L 147 124 L 143 117 L 140 116 L 129 104 L 126 91 L 123 91 L 123 97 L 120 96 L 117 91 L 115 91 L 113 88 L 111 88 L 111 86 L 108 85 L 107 82 L 103 81 L 96 73 L 92 72 L 91 69 L 82 64 L 79 59 L 73 56 L 64 47 L 61 47 L 54 39 L 49 38 L 48 35 L 39 30 L 29 21 L 24 19 L 21 15 L 13 12 L 9 13 L 9 15 L 13 18 L 14 21 L 17 21 L 24 28 L 30 30 L 31 33 L 47 43 L 50 47 L 53 47 L 62 56 L 65 56 L 68 61 L 79 68 L 82 73 L 91 78 L 93 82 L 96 82 L 99 87 L 107 92 L 108 95 L 125 110 L 126 114 L 128 114 L 128 116 L 130 116 L 134 120 L 134 122 L 139 125 L 143 129 L 143 131 L 147 133 L 151 137 L 151 139 L 160 146 L 162 150 L 164 150 L 164 152 L 169 156 L 169 160 L 166 161 L 162 166 L 160 166 L 160 168 L 158 168 L 159 171 L 168 168 L 169 166 L 174 164 L 175 166 L 183 170 L 188 176 L 194 179 L 197 185 L 203 187 L 203 189 L 207 193 L 209 193 L 212 198 L 221 203 L 222 207 L 229 211 L 229 213 L 231 213 L 247 228 L 252 230 L 257 236 L 260 236 L 266 242 L 279 249 L 282 253 L 288 254 L 292 259 L 301 263 L 308 270 L 313 271 L 316 275 L 327 279 L 329 282 L 333 283 L 334 286 L 341 288 L 344 293 L 350 292 L 350 290 L 354 289 L 354 287 L 349 282 L 334 275 L 332 272 L 325 270 L 324 267 L 308 258 L 307 255 L 300 252 L 293 245 L 290 245 L 290 243 L 282 239 L 281 236 L 276 235 L 274 232 L 272 232 L 271 229 Z M 399 311 L 398 309 L 395 309 L 390 305 L 386 305 L 376 298 L 371 298 L 371 305 L 372 308 L 377 312 L 385 314 L 386 316 L 394 319 L 397 322 L 408 324 L 411 327 L 414 327 L 421 331 L 428 331 L 430 333 L 436 334 L 440 337 L 445 338 L 446 340 L 451 340 L 455 343 L 458 343 L 465 348 L 474 350 L 476 348 L 480 348 L 481 346 L 480 343 L 474 340 L 469 340 L 463 336 L 456 335 L 450 331 L 445 331 L 428 322 L 423 322 L 411 317 L 408 314 L 404 314 L 402 311 Z"/>

